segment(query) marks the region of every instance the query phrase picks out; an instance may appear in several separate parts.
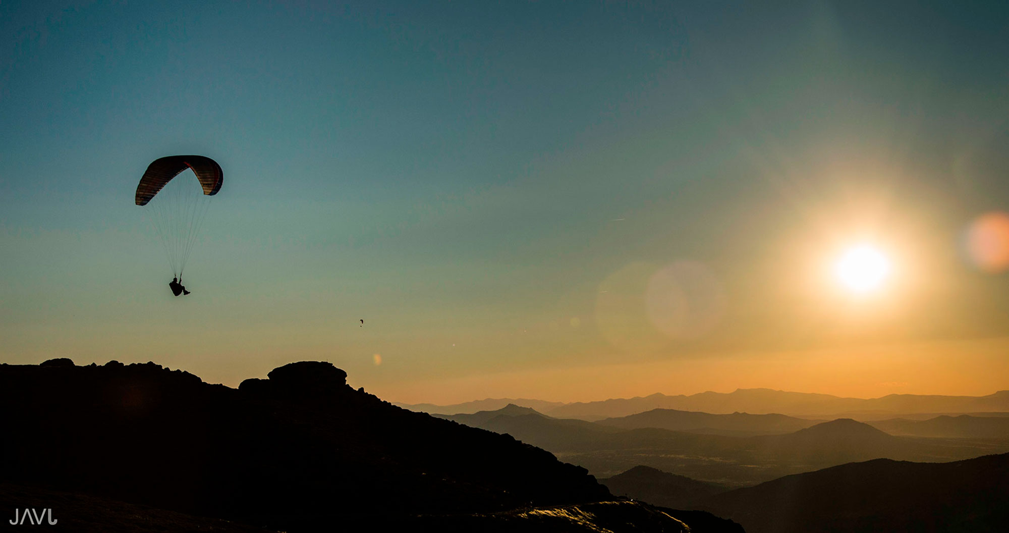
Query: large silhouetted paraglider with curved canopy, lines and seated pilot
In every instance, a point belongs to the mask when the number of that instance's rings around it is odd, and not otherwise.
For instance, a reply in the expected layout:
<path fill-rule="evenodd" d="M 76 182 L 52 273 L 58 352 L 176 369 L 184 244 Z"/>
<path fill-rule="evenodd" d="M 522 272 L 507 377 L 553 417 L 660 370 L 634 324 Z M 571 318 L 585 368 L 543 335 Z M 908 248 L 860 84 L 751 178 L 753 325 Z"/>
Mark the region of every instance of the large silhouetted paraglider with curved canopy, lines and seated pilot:
<path fill-rule="evenodd" d="M 198 183 L 183 176 L 192 170 Z M 135 203 L 146 206 L 157 236 L 164 245 L 172 272 L 172 294 L 190 294 L 183 285 L 183 270 L 207 215 L 210 199 L 221 190 L 224 172 L 214 159 L 204 155 L 170 155 L 147 167 L 136 186 Z"/>

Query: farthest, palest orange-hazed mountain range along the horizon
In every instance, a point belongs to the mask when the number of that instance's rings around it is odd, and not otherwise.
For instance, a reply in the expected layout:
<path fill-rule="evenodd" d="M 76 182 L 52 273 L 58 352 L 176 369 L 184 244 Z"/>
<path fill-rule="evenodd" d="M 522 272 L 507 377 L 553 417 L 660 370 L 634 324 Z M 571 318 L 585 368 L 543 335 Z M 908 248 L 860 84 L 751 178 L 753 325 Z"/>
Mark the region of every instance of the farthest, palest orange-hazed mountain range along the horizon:
<path fill-rule="evenodd" d="M 398 404 L 414 411 L 438 414 L 475 413 L 499 409 L 508 404 L 531 407 L 555 418 L 597 421 L 626 417 L 653 409 L 700 411 L 711 414 L 735 412 L 784 414 L 805 418 L 855 418 L 880 420 L 910 414 L 960 414 L 1009 412 L 1009 391 L 988 396 L 888 395 L 882 398 L 840 398 L 831 395 L 791 393 L 771 389 L 738 389 L 733 393 L 699 393 L 690 396 L 654 394 L 647 397 L 599 402 L 557 404 L 539 400 L 481 400 L 453 406 Z"/>

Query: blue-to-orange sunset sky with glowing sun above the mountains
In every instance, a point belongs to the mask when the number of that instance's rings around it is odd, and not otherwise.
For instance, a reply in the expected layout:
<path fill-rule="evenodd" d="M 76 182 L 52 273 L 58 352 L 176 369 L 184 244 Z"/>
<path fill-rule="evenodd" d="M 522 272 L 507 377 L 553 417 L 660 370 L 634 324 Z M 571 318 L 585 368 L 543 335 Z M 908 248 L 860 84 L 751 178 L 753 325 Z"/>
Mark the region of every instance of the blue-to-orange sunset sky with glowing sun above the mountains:
<path fill-rule="evenodd" d="M 442 404 L 1009 389 L 1007 27 L 1006 2 L 4 1 L 0 361 L 329 360 Z M 189 153 L 224 186 L 175 298 L 133 197 Z"/>

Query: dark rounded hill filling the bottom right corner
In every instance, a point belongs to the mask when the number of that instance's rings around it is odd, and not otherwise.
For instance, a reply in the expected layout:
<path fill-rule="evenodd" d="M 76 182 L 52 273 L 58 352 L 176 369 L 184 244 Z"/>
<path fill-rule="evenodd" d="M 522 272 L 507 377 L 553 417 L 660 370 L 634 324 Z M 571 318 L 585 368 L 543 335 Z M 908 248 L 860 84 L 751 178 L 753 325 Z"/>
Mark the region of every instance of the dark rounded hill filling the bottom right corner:
<path fill-rule="evenodd" d="M 749 533 L 1002 532 L 1009 454 L 920 463 L 876 459 L 722 493 L 698 508 Z"/>

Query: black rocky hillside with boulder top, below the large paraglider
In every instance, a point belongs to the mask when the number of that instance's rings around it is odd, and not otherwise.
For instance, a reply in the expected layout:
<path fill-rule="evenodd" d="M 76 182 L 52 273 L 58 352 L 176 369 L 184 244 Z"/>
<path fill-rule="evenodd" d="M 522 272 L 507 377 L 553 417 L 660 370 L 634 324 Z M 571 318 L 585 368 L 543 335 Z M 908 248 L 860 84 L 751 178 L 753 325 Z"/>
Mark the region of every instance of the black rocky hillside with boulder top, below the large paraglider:
<path fill-rule="evenodd" d="M 540 527 L 546 514 L 541 529 L 595 531 L 590 519 L 563 517 L 591 515 L 579 506 L 611 498 L 584 468 L 511 436 L 395 407 L 350 388 L 327 362 L 288 364 L 237 390 L 154 363 L 2 364 L 0 424 L 7 487 L 143 505 L 179 520 L 473 530 L 493 516 L 475 529 L 511 531 Z M 643 504 L 605 510 L 614 524 L 650 517 L 635 531 L 682 525 Z M 710 531 L 735 530 L 705 520 Z"/>

